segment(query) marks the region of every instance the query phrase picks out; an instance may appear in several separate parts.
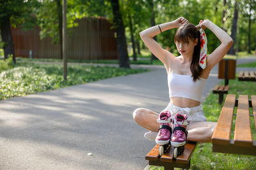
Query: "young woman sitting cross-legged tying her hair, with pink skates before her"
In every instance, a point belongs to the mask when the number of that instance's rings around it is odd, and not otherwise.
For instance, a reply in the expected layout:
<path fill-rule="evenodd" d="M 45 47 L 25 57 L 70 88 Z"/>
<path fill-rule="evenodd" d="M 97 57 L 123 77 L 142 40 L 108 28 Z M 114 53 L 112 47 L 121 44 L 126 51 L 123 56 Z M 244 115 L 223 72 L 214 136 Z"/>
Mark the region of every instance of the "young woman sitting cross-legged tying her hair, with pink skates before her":
<path fill-rule="evenodd" d="M 175 34 L 174 42 L 180 53 L 179 57 L 164 50 L 153 39 L 157 34 L 176 27 L 179 29 Z M 201 20 L 199 27 L 210 29 L 221 41 L 221 45 L 206 56 L 204 69 L 199 64 L 200 47 L 204 42 L 198 28 L 189 23 L 186 18 L 180 17 L 140 32 L 141 39 L 150 52 L 154 53 L 166 68 L 170 103 L 160 114 L 138 108 L 134 111 L 133 118 L 139 125 L 150 131 L 145 134 L 145 138 L 154 139 L 157 136 L 156 142 L 159 145 L 165 145 L 171 141 L 173 146 L 178 147 L 184 145 L 187 139 L 211 142 L 216 122 L 207 122 L 200 100 L 212 67 L 220 62 L 233 41 L 225 31 L 210 20 Z"/>

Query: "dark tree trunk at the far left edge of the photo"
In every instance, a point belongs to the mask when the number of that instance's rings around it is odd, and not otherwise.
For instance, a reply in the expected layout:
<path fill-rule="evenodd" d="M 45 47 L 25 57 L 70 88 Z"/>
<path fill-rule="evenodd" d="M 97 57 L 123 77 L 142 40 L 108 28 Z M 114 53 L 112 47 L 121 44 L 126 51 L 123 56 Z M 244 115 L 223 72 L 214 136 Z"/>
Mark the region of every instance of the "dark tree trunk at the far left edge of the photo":
<path fill-rule="evenodd" d="M 4 43 L 4 59 L 8 58 L 8 55 L 13 56 L 13 63 L 16 63 L 14 45 L 12 39 L 11 22 L 10 17 L 4 17 L 1 25 L 1 39 Z"/>

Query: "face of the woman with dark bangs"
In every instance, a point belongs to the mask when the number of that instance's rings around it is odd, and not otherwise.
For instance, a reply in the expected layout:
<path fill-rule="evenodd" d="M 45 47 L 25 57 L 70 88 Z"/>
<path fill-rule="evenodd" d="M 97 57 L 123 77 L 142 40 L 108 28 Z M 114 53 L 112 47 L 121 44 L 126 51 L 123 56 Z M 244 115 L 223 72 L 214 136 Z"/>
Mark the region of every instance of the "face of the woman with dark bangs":
<path fill-rule="evenodd" d="M 195 40 L 188 38 L 188 41 L 175 41 L 175 44 L 180 55 L 193 55 L 197 41 L 198 38 L 196 38 Z"/>

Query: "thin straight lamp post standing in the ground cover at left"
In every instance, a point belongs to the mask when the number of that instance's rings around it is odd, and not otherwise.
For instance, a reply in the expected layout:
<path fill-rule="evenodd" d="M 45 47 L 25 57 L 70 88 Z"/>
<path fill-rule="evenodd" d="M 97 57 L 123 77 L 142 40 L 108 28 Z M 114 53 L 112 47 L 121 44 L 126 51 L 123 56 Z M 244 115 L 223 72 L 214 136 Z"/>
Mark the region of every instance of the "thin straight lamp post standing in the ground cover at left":
<path fill-rule="evenodd" d="M 67 81 L 67 1 L 62 1 L 63 78 Z"/>

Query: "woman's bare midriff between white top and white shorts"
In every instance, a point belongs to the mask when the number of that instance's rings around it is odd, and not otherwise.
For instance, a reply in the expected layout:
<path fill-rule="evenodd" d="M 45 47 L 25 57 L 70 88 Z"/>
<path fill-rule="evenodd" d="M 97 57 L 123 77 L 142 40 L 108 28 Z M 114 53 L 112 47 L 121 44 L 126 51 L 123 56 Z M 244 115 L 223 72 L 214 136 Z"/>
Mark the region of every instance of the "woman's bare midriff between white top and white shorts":
<path fill-rule="evenodd" d="M 171 97 L 170 101 L 172 102 L 172 104 L 174 104 L 175 106 L 179 106 L 180 108 L 193 108 L 196 106 L 200 106 L 199 101 L 184 97 Z"/>

